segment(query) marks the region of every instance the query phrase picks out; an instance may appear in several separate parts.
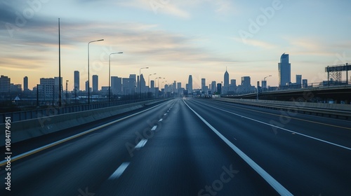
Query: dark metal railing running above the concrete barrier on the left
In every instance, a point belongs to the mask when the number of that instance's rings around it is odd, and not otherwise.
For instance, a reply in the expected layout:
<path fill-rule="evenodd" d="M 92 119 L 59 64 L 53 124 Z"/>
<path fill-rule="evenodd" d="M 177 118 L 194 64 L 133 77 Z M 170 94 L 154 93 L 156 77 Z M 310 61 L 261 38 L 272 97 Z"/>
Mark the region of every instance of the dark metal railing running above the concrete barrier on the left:
<path fill-rule="evenodd" d="M 20 120 L 29 120 L 33 118 L 42 118 L 47 116 L 55 116 L 59 114 L 65 113 L 73 113 L 79 111 L 88 111 L 93 109 L 102 109 L 112 106 L 120 106 L 124 104 L 133 104 L 136 102 L 143 102 L 146 100 L 157 100 L 157 99 L 139 99 L 139 100 L 130 100 L 130 101 L 121 101 L 121 102 L 105 102 L 98 104 L 90 104 L 90 105 L 77 105 L 77 106 L 48 106 L 47 109 L 38 109 L 34 111 L 18 111 L 12 113 L 0 113 L 0 124 L 5 123 L 6 117 L 11 117 L 12 122 L 17 122 Z"/>

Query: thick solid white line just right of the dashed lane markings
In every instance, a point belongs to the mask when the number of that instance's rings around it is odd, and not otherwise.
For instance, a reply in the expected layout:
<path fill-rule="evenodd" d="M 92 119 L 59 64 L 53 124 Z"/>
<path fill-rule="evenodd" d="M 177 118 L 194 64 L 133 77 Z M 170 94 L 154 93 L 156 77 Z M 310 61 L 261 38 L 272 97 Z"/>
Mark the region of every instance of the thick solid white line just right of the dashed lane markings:
<path fill-rule="evenodd" d="M 197 117 L 199 117 L 202 120 L 202 122 L 204 122 L 213 132 L 215 132 L 218 135 L 218 137 L 220 137 L 220 139 L 222 139 L 225 142 L 225 144 L 230 146 L 230 148 L 232 148 L 232 150 L 235 153 L 237 153 L 248 165 L 250 165 L 252 169 L 254 169 L 258 174 L 260 174 L 260 176 L 262 176 L 263 179 L 265 179 L 265 181 L 267 181 L 267 183 L 269 183 L 270 186 L 272 186 L 272 188 L 274 188 L 274 190 L 276 190 L 277 193 L 279 193 L 279 195 L 293 195 L 289 192 L 289 190 L 284 188 L 284 186 L 282 186 L 282 184 L 280 184 L 276 179 L 270 176 L 270 174 L 265 172 L 265 170 L 262 169 L 262 167 L 260 167 L 259 165 L 257 165 L 256 162 L 251 160 L 249 156 L 247 156 L 243 151 L 237 148 L 237 146 L 235 146 L 227 138 L 225 138 L 223 134 L 220 134 L 220 132 L 218 132 L 218 130 L 216 130 L 215 127 L 207 123 L 207 121 L 204 118 L 202 118 L 196 111 L 190 108 L 190 106 L 184 100 L 183 102 Z"/>

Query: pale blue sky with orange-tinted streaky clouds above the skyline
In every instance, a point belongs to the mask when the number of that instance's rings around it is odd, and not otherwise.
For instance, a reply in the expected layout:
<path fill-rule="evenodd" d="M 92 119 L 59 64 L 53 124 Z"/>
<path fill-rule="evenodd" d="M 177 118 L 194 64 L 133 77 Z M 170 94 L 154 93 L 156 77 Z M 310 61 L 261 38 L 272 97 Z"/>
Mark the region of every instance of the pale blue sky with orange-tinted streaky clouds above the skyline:
<path fill-rule="evenodd" d="M 1 0 L 0 74 L 11 83 L 58 76 L 60 18 L 61 76 L 72 90 L 74 71 L 80 88 L 99 76 L 99 89 L 111 76 L 157 77 L 194 88 L 223 81 L 225 70 L 240 84 L 263 80 L 278 85 L 278 62 L 285 52 L 296 74 L 308 83 L 326 80 L 326 66 L 351 63 L 349 0 Z M 345 80 L 345 74 L 343 76 Z M 148 83 L 148 81 L 146 81 Z"/>

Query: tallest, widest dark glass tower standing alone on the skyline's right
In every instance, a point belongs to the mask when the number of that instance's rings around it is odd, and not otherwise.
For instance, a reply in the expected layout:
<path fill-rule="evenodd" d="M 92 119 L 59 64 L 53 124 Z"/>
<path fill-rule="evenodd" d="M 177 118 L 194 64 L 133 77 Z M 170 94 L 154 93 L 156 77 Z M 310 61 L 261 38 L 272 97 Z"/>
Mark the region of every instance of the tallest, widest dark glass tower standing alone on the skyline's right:
<path fill-rule="evenodd" d="M 289 54 L 283 54 L 278 63 L 279 86 L 289 85 L 291 83 L 291 64 L 289 63 Z"/>

